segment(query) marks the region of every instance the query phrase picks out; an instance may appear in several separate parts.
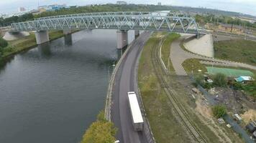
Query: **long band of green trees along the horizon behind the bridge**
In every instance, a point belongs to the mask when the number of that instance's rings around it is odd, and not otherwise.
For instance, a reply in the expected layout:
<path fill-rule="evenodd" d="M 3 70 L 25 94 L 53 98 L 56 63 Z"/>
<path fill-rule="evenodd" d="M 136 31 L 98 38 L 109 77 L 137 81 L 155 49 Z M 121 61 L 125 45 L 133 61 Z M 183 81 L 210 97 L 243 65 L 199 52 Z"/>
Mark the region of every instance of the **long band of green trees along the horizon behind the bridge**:
<path fill-rule="evenodd" d="M 193 8 L 189 8 L 192 9 Z M 198 8 L 197 8 L 198 9 Z M 143 5 L 143 4 L 129 4 L 129 5 L 117 5 L 117 4 L 104 4 L 104 5 L 91 5 L 91 6 L 79 6 L 79 7 L 70 7 L 68 9 L 58 9 L 56 11 L 45 11 L 41 14 L 24 14 L 22 16 L 12 16 L 6 19 L 0 18 L 0 26 L 8 26 L 15 22 L 21 21 L 29 21 L 32 19 L 37 19 L 45 16 L 56 16 L 56 15 L 65 15 L 65 14 L 81 14 L 81 13 L 89 13 L 89 12 L 103 12 L 103 11 L 188 11 L 188 8 L 181 8 L 179 6 L 155 6 L 155 5 Z M 207 9 L 204 9 L 205 11 Z M 211 9 L 208 9 L 209 11 Z M 198 11 L 200 12 L 200 11 Z M 249 21 L 242 21 L 238 18 L 232 18 L 231 16 L 222 15 L 214 15 L 211 13 L 207 13 L 205 15 L 196 14 L 196 21 L 199 24 L 206 23 L 214 23 L 219 22 L 223 24 L 235 24 L 247 27 L 256 28 L 256 23 L 252 24 Z"/>

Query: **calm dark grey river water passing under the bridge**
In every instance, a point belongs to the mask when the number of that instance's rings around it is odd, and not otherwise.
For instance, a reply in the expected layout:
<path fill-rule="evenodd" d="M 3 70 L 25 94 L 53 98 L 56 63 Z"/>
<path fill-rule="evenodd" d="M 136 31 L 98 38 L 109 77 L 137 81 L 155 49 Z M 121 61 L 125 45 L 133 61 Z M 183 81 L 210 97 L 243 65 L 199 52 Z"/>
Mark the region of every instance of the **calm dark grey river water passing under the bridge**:
<path fill-rule="evenodd" d="M 104 109 L 118 53 L 115 30 L 93 30 L 14 56 L 0 69 L 0 143 L 79 142 Z"/>

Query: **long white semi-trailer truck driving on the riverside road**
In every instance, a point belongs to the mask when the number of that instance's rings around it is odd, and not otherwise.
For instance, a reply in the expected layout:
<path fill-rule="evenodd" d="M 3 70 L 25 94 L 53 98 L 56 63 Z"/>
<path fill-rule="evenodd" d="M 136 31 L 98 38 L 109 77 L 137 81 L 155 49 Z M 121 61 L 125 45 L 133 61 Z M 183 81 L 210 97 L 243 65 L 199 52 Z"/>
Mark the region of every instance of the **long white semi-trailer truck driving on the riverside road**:
<path fill-rule="evenodd" d="M 135 92 L 128 92 L 129 99 L 129 109 L 132 114 L 132 125 L 135 131 L 142 131 L 144 127 L 144 122 L 142 118 L 142 113 L 140 112 L 139 102 Z"/>

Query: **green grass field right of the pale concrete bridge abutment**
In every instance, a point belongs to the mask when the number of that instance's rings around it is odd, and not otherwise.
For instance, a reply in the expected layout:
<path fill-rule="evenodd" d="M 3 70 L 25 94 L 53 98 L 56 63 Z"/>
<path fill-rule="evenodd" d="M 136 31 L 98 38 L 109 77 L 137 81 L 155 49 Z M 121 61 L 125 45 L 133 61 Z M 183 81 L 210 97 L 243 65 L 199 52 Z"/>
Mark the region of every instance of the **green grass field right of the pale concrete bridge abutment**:
<path fill-rule="evenodd" d="M 243 39 L 216 41 L 214 52 L 218 59 L 239 61 L 256 66 L 256 41 Z"/>

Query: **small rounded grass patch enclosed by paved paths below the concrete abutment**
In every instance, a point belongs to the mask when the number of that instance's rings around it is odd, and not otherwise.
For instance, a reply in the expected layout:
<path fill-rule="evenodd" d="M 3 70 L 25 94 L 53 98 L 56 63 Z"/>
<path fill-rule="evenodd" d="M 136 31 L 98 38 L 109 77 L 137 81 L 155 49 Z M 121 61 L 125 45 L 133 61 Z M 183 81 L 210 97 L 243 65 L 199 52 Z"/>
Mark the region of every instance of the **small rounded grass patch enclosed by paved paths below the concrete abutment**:
<path fill-rule="evenodd" d="M 187 73 L 198 73 L 199 69 L 201 70 L 202 73 L 206 72 L 206 66 L 201 64 L 198 59 L 186 59 L 186 61 L 183 62 L 182 64 L 183 68 Z"/>

